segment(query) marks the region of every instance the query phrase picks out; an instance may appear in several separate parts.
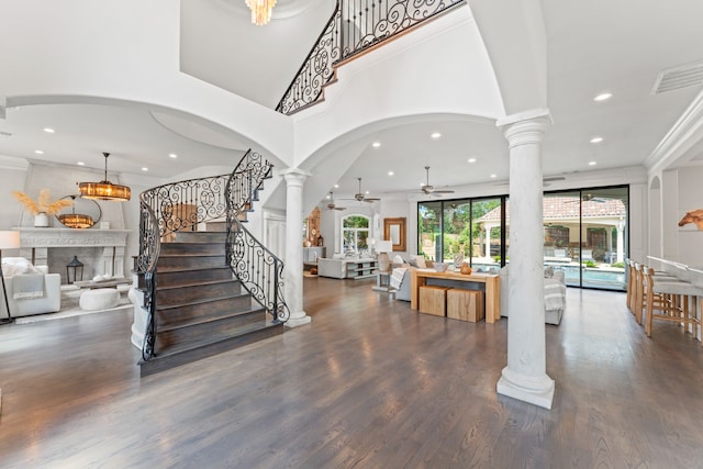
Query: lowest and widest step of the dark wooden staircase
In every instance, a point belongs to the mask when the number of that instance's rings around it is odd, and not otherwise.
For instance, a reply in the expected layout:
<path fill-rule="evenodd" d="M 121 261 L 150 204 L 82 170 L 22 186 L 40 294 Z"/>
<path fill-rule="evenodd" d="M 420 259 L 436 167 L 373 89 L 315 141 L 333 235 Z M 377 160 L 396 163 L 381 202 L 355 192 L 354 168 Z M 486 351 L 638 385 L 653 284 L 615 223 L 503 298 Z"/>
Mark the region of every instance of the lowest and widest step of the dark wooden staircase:
<path fill-rule="evenodd" d="M 208 358 L 282 333 L 282 323 L 275 324 L 270 321 L 260 321 L 247 324 L 242 326 L 235 336 L 217 335 L 209 337 L 207 342 L 188 344 L 182 348 L 172 348 L 168 353 L 156 355 L 148 361 L 141 361 L 141 376 L 145 377 L 190 361 Z"/>

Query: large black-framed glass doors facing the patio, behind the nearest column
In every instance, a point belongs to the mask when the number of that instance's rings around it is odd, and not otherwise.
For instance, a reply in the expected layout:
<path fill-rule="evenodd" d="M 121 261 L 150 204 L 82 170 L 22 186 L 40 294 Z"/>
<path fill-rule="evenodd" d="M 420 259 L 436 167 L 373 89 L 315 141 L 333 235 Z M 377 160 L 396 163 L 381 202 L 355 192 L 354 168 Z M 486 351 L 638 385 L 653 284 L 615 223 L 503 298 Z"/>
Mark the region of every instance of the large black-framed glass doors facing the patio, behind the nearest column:
<path fill-rule="evenodd" d="M 628 188 L 618 186 L 544 194 L 544 264 L 571 287 L 624 290 Z M 510 263 L 506 197 L 417 204 L 419 252 L 453 263 L 457 254 L 477 271 Z"/>

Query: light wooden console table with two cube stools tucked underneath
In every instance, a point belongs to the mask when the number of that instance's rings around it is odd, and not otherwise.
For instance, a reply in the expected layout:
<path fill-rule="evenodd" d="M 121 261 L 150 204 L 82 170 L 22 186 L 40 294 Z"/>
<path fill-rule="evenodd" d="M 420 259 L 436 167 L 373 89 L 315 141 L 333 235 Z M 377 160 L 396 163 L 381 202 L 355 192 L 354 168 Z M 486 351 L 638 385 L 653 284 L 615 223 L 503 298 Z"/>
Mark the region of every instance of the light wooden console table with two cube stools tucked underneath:
<path fill-rule="evenodd" d="M 410 308 L 416 310 L 420 305 L 417 301 L 420 287 L 427 283 L 427 279 L 458 280 L 464 282 L 476 282 L 486 284 L 486 322 L 494 323 L 501 319 L 501 278 L 492 273 L 471 273 L 469 276 L 459 272 L 437 272 L 435 270 L 412 271 L 410 283 Z M 468 286 L 467 286 L 468 287 Z M 467 288 L 467 290 L 472 290 Z"/>

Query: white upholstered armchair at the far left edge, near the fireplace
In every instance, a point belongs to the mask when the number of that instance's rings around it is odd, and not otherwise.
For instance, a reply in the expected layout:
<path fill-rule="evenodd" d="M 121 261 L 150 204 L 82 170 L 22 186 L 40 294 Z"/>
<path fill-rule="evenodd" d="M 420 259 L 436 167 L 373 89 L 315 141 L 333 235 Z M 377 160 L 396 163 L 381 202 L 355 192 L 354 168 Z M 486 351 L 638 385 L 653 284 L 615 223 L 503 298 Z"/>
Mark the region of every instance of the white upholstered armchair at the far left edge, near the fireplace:
<path fill-rule="evenodd" d="M 21 259 L 21 258 L 9 258 L 10 259 Z M 31 266 L 31 273 L 16 273 L 16 270 L 13 271 L 12 267 L 5 264 L 5 259 L 2 259 L 3 263 L 3 276 L 4 283 L 8 290 L 8 303 L 10 304 L 10 314 L 12 317 L 20 316 L 29 316 L 32 314 L 44 314 L 44 313 L 55 313 L 62 309 L 62 276 L 58 273 L 47 273 L 46 266 L 34 267 Z M 25 260 L 26 263 L 26 260 Z M 29 263 L 27 263 L 29 264 Z M 27 269 L 23 269 L 27 270 Z M 43 294 L 37 298 L 14 298 L 16 290 L 16 278 L 26 276 L 26 275 L 43 275 L 44 276 L 44 284 L 43 284 Z M 14 275 L 8 275 L 14 273 Z M 0 288 L 0 319 L 7 319 L 8 311 L 4 302 L 4 293 Z"/>

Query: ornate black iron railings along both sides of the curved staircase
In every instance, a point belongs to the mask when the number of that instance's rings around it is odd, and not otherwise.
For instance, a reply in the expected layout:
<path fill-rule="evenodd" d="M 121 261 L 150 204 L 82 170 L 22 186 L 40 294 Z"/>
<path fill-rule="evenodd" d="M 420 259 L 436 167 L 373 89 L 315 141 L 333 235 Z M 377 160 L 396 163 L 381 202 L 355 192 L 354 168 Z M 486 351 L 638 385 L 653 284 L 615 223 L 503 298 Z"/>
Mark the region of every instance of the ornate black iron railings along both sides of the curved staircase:
<path fill-rule="evenodd" d="M 221 220 L 225 216 L 230 223 L 234 221 L 236 225 L 235 228 L 228 230 L 244 231 L 238 215 L 244 211 L 250 210 L 252 201 L 257 200 L 258 190 L 264 179 L 270 177 L 271 170 L 272 165 L 270 163 L 264 160 L 259 154 L 248 150 L 231 175 L 172 182 L 149 189 L 140 194 L 140 256 L 136 259 L 136 268 L 144 275 L 144 309 L 147 312 L 147 326 L 142 347 L 142 358 L 144 360 L 150 359 L 155 351 L 154 346 L 158 326 L 156 316 L 156 263 L 161 241 L 169 238 L 169 235 L 177 231 L 196 231 L 200 223 Z M 246 244 L 243 245 L 244 248 L 268 252 L 250 234 L 248 236 Z M 231 252 L 228 247 L 231 244 L 230 237 L 231 235 L 227 233 L 226 253 Z M 227 258 L 230 259 L 231 256 L 228 255 Z M 269 269 L 266 273 L 279 275 L 276 279 L 268 279 L 268 277 L 260 275 L 249 275 L 239 280 L 248 291 L 257 292 L 253 293 L 253 295 L 259 302 L 268 298 L 269 288 L 250 286 L 252 279 L 264 283 L 277 284 L 278 290 L 275 291 L 277 301 L 272 303 L 272 309 L 269 309 L 264 303 L 261 305 L 267 308 L 274 315 L 275 321 L 281 321 L 281 317 L 284 317 L 282 311 L 287 311 L 286 303 L 282 300 L 282 280 L 280 277 L 283 263 L 276 258 L 274 264 L 280 265 L 280 267 Z M 241 268 L 237 267 L 235 269 L 232 267 L 232 269 L 239 277 L 238 270 Z M 257 288 L 265 291 L 266 294 L 258 293 Z"/>

